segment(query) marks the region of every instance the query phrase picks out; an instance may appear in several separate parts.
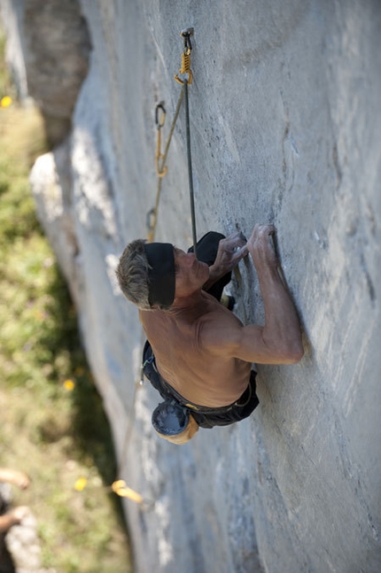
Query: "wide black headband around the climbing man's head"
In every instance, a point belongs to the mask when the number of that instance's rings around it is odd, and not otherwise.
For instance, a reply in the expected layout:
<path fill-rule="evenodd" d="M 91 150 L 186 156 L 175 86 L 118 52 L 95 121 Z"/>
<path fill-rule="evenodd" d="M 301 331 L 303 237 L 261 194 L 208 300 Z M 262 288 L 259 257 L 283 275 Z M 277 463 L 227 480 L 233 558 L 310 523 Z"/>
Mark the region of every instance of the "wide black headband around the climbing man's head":
<path fill-rule="evenodd" d="M 148 302 L 150 306 L 168 308 L 175 300 L 175 253 L 173 244 L 146 243 L 144 252 L 148 269 Z"/>

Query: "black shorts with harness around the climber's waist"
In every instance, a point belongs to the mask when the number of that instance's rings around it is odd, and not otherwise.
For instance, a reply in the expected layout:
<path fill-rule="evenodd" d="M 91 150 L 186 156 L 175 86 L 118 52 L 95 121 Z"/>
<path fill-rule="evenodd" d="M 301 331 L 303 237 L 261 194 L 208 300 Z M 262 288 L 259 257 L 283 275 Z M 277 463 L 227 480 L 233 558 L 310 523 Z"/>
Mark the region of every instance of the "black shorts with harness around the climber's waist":
<path fill-rule="evenodd" d="M 143 353 L 143 370 L 144 376 L 152 383 L 152 386 L 159 391 L 159 394 L 164 400 L 174 400 L 182 407 L 186 408 L 193 416 L 201 428 L 214 428 L 214 426 L 229 426 L 234 422 L 245 420 L 254 409 L 259 405 L 260 400 L 255 393 L 255 376 L 257 373 L 252 370 L 250 380 L 245 392 L 234 404 L 223 407 L 206 407 L 193 404 L 187 399 L 184 399 L 181 394 L 175 391 L 170 384 L 159 375 L 156 368 L 155 357 L 152 352 L 152 347 L 147 341 L 144 345 Z"/>

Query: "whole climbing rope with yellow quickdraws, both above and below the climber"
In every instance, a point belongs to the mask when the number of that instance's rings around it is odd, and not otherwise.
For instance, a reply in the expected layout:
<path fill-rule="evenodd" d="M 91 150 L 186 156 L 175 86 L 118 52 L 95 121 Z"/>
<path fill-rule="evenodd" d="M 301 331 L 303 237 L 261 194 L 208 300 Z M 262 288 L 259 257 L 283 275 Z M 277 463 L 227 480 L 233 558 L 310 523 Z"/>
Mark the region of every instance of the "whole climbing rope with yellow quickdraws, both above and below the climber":
<path fill-rule="evenodd" d="M 167 174 L 167 154 L 169 151 L 169 146 L 172 140 L 172 136 L 175 131 L 176 121 L 179 116 L 179 112 L 183 103 L 183 99 L 185 99 L 185 127 L 186 127 L 186 144 L 187 144 L 187 159 L 188 159 L 188 178 L 189 178 L 189 186 L 190 186 L 190 199 L 191 199 L 191 226 L 192 226 L 192 236 L 193 236 L 193 249 L 194 253 L 197 256 L 197 232 L 196 232 L 196 216 L 195 216 L 195 205 L 194 205 L 194 192 L 193 192 L 193 176 L 192 176 L 192 166 L 191 166 L 191 128 L 190 128 L 190 112 L 189 112 L 189 95 L 188 95 L 188 86 L 193 81 L 193 74 L 191 72 L 191 35 L 193 35 L 193 28 L 187 28 L 183 30 L 180 35 L 183 37 L 183 53 L 182 53 L 182 65 L 179 69 L 178 74 L 175 75 L 175 81 L 181 84 L 182 89 L 180 91 L 180 95 L 177 101 L 175 115 L 172 120 L 171 128 L 169 130 L 169 135 L 167 137 L 167 143 L 164 148 L 164 153 L 161 153 L 161 130 L 165 126 L 166 122 L 166 108 L 164 102 L 159 102 L 155 108 L 155 123 L 157 128 L 157 139 L 156 139 L 156 153 L 155 153 L 155 166 L 156 166 L 156 174 L 158 175 L 158 185 L 156 191 L 156 201 L 155 206 L 147 213 L 147 239 L 149 243 L 152 243 L 155 238 L 156 228 L 158 224 L 158 213 L 159 213 L 159 202 L 161 197 L 161 187 L 162 187 L 162 180 Z M 179 74 L 187 74 L 187 78 L 180 78 Z M 141 341 L 141 348 L 143 349 L 144 345 L 144 337 L 142 333 L 142 341 Z M 141 378 L 143 378 L 143 374 L 141 373 Z M 126 456 L 128 451 L 129 442 L 132 435 L 132 427 L 135 421 L 135 414 L 136 414 L 136 392 L 139 384 L 143 383 L 143 379 L 141 379 L 138 383 L 135 384 L 134 395 L 132 399 L 132 408 L 131 414 L 128 420 L 128 427 L 125 432 L 125 436 L 123 439 L 123 444 L 121 448 L 121 464 Z M 121 464 L 118 468 L 118 475 L 121 475 Z M 137 504 L 140 504 L 143 507 L 151 507 L 144 502 L 143 496 L 132 490 L 123 479 L 118 479 L 113 482 L 111 489 L 114 493 L 121 497 L 125 497 L 135 501 Z"/>

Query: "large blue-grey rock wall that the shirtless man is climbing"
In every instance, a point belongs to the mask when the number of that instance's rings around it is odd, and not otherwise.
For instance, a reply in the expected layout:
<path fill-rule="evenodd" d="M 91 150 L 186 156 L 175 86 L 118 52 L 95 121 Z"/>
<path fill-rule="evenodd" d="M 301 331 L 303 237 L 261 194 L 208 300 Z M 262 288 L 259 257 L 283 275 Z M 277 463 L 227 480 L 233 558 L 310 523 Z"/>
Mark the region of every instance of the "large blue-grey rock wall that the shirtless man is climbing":
<path fill-rule="evenodd" d="M 29 2 L 2 4 L 9 21 Z M 146 500 L 126 501 L 136 571 L 376 573 L 379 3 L 82 0 L 81 9 L 93 49 L 73 131 L 31 179 L 113 424 L 118 477 Z M 251 419 L 175 446 L 153 434 L 155 391 L 136 385 L 143 337 L 113 267 L 125 244 L 146 234 L 156 195 L 154 105 L 166 102 L 166 136 L 180 89 L 178 33 L 190 26 L 198 236 L 276 225 L 306 355 L 298 365 L 258 367 Z M 157 234 L 181 247 L 191 243 L 184 136 L 182 111 Z M 237 314 L 261 321 L 250 261 L 240 271 Z"/>

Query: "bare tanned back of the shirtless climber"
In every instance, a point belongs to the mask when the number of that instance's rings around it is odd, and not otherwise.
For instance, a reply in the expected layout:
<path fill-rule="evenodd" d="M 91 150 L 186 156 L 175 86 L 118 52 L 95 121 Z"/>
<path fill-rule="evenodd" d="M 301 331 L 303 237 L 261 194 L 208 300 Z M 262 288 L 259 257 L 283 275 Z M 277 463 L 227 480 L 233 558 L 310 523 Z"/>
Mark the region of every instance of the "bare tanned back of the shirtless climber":
<path fill-rule="evenodd" d="M 140 311 L 160 375 L 185 399 L 222 407 L 238 399 L 249 382 L 251 363 L 226 352 L 224 332 L 242 328 L 229 310 L 206 292 L 197 306 Z"/>

